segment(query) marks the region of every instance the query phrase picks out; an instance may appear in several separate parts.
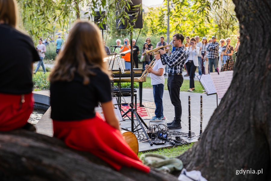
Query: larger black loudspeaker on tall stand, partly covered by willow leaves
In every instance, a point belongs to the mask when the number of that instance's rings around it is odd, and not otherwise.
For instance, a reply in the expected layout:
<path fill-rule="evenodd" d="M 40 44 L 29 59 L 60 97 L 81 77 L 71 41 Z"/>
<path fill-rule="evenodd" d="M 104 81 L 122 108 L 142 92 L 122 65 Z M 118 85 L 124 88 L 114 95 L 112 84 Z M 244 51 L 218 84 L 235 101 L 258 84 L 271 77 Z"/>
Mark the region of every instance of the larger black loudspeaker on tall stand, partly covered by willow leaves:
<path fill-rule="evenodd" d="M 143 28 L 143 19 L 142 19 L 142 12 L 140 12 L 140 7 L 135 7 L 135 5 L 140 5 L 142 7 L 142 0 L 132 0 L 132 3 L 129 3 L 130 5 L 130 9 L 125 8 L 120 9 L 116 11 L 116 15 L 120 14 L 121 11 L 125 11 L 130 20 L 128 20 L 127 18 L 124 18 L 124 24 L 123 22 L 117 18 L 116 19 L 116 29 L 125 29 L 127 27 L 127 24 L 133 24 L 134 28 Z M 132 22 L 132 20 L 135 19 L 135 15 L 138 14 L 137 16 L 137 20 L 135 22 Z"/>

